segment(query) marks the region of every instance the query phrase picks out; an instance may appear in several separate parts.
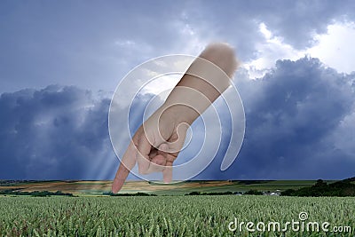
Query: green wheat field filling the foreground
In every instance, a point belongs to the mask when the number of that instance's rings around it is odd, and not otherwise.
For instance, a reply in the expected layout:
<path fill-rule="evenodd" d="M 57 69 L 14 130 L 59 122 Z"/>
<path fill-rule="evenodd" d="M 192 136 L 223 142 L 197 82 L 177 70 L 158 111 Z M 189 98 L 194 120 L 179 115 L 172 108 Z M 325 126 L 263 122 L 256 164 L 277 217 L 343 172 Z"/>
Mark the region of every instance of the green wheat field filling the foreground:
<path fill-rule="evenodd" d="M 355 198 L 337 197 L 1 196 L 0 213 L 0 236 L 352 237 L 355 228 Z M 311 227 L 297 231 L 290 225 L 286 229 L 293 221 L 299 226 L 317 222 L 319 232 Z M 255 232 L 246 229 L 248 222 L 255 224 Z M 280 230 L 275 225 L 269 231 L 265 226 L 274 222 L 280 223 Z M 320 229 L 325 222 L 329 232 Z M 332 232 L 334 227 L 343 232 Z"/>

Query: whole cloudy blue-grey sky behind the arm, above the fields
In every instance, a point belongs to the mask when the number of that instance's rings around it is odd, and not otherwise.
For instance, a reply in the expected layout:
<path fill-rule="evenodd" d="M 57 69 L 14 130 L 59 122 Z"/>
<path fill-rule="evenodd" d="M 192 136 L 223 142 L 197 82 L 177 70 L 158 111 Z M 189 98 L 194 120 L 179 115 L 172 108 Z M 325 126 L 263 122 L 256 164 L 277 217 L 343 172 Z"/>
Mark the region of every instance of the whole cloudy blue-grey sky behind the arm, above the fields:
<path fill-rule="evenodd" d="M 354 1 L 0 1 L 0 179 L 114 178 L 107 118 L 117 84 L 147 59 L 198 55 L 217 41 L 241 60 L 233 82 L 245 138 L 221 171 L 225 132 L 195 178 L 353 177 L 352 9 Z M 143 91 L 132 109 L 140 115 L 155 93 Z"/>

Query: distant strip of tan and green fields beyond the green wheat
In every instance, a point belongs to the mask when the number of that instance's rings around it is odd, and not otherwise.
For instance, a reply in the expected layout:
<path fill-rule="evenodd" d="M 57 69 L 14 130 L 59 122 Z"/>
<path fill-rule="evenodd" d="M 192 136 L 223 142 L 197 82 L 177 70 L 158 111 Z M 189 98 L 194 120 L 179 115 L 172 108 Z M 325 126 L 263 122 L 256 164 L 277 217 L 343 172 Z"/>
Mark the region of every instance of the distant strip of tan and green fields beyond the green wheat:
<path fill-rule="evenodd" d="M 0 180 L 1 181 L 1 180 Z M 144 192 L 147 194 L 158 195 L 184 195 L 190 192 L 242 192 L 248 190 L 284 191 L 288 188 L 301 188 L 314 185 L 316 180 L 200 180 L 180 182 L 170 185 L 162 185 L 146 181 L 129 181 L 124 184 L 120 193 Z M 327 180 L 328 183 L 335 182 Z M 101 195 L 111 190 L 112 180 L 83 181 L 83 180 L 53 180 L 53 181 L 34 181 L 16 182 L 10 184 L 0 184 L 0 191 L 14 189 L 20 192 L 33 191 L 61 191 L 75 195 Z"/>

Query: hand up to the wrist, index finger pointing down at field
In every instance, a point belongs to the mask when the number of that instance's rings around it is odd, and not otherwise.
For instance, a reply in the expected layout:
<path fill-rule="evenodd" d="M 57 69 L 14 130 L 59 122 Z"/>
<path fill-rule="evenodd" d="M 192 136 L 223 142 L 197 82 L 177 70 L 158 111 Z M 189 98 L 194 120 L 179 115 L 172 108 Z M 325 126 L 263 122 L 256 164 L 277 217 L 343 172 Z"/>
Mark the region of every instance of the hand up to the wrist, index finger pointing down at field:
<path fill-rule="evenodd" d="M 114 178 L 114 193 L 121 189 L 136 162 L 140 174 L 162 172 L 163 181 L 170 183 L 173 162 L 184 146 L 191 124 L 185 120 L 187 114 L 193 111 L 185 106 L 161 107 L 138 128 Z"/>

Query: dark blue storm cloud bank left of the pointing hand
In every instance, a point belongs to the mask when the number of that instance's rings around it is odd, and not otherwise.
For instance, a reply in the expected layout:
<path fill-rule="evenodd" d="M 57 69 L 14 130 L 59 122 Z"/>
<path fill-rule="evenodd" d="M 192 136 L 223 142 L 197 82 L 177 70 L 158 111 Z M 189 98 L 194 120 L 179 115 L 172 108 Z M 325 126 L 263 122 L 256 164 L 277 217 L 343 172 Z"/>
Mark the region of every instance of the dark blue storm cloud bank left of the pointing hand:
<path fill-rule="evenodd" d="M 97 97 L 97 95 L 95 95 Z M 109 99 L 48 86 L 0 97 L 0 178 L 88 178 L 92 162 L 114 161 Z"/>

